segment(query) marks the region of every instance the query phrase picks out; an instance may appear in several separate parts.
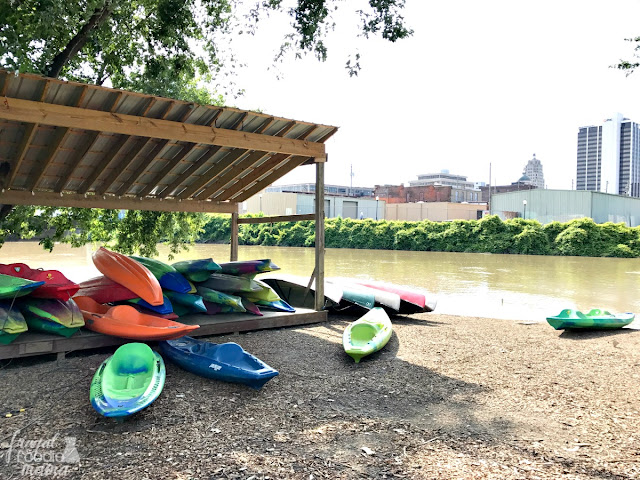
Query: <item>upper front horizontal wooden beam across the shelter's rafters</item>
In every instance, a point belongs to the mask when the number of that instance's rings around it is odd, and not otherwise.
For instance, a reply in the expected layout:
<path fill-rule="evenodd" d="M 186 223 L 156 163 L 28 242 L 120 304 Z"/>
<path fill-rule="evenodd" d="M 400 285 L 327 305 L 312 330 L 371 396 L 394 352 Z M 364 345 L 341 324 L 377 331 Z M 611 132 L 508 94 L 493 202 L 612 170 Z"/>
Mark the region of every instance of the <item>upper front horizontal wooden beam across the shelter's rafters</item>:
<path fill-rule="evenodd" d="M 245 150 L 281 152 L 307 157 L 324 157 L 325 155 L 324 144 L 306 140 L 184 124 L 18 98 L 10 98 L 6 103 L 6 105 L 0 105 L 0 118 L 4 120 L 42 123 L 82 130 L 99 130 L 122 135 L 182 140 Z"/>

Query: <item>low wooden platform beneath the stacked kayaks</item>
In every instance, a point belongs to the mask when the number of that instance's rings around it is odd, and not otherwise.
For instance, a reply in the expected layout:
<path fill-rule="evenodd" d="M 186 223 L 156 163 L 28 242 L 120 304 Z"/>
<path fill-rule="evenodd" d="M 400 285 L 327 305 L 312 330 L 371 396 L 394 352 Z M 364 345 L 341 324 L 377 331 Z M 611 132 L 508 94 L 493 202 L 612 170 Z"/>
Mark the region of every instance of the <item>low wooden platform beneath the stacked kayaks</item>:
<path fill-rule="evenodd" d="M 221 315 L 187 315 L 180 318 L 181 323 L 200 325 L 191 332 L 193 337 L 206 335 L 221 335 L 249 330 L 263 330 L 295 325 L 325 322 L 328 319 L 326 311 L 316 312 L 306 308 L 297 308 L 296 312 L 263 311 L 263 316 L 249 314 L 221 314 Z M 65 338 L 58 335 L 26 332 L 9 345 L 0 345 L 0 360 L 35 355 L 57 354 L 76 350 L 90 350 L 100 347 L 110 347 L 131 342 L 126 338 L 111 337 L 90 330 L 81 329 L 75 335 Z"/>

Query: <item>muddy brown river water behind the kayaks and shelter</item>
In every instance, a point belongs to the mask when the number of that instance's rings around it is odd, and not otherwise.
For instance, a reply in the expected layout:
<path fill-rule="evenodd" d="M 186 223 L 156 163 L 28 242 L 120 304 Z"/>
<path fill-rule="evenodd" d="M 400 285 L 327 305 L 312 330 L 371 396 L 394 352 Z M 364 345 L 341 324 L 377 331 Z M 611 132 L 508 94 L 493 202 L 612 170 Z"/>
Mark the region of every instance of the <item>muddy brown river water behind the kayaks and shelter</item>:
<path fill-rule="evenodd" d="M 0 248 L 0 263 L 60 270 L 81 282 L 100 275 L 91 261 L 95 248 L 60 244 L 49 253 L 37 242 L 7 242 Z M 168 249 L 159 250 L 158 259 L 167 261 Z M 229 245 L 199 244 L 173 261 L 211 257 L 226 262 L 229 252 Z M 315 253 L 313 248 L 240 246 L 238 257 L 270 258 L 282 273 L 308 277 Z M 640 314 L 640 259 L 327 249 L 325 271 L 423 291 L 437 300 L 436 312 L 452 315 L 536 322 L 564 308 Z"/>

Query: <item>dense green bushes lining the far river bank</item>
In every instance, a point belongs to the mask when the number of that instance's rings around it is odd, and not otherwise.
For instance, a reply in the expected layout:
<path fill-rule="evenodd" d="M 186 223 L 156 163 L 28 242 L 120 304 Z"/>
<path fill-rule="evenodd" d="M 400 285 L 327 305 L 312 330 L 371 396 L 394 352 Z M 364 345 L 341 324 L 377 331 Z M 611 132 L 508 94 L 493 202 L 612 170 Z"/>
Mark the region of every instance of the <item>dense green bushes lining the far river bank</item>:
<path fill-rule="evenodd" d="M 229 242 L 230 235 L 230 218 L 212 215 L 198 241 L 225 243 Z M 312 247 L 314 222 L 241 225 L 238 242 L 240 245 Z M 338 217 L 325 220 L 325 245 L 328 248 L 634 258 L 640 256 L 640 227 L 611 222 L 597 224 L 590 218 L 542 225 L 522 218 L 502 221 L 496 215 L 450 222 Z"/>

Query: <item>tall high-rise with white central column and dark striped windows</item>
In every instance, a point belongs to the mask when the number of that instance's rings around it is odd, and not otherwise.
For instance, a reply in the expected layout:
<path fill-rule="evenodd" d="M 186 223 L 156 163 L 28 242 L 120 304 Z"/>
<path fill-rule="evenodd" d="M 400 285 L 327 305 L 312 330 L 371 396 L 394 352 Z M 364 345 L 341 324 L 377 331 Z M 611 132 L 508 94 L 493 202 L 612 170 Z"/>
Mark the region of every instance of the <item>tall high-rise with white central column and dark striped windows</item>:
<path fill-rule="evenodd" d="M 616 113 L 580 127 L 576 189 L 640 197 L 640 125 Z"/>

